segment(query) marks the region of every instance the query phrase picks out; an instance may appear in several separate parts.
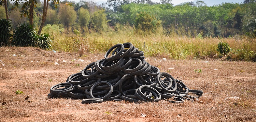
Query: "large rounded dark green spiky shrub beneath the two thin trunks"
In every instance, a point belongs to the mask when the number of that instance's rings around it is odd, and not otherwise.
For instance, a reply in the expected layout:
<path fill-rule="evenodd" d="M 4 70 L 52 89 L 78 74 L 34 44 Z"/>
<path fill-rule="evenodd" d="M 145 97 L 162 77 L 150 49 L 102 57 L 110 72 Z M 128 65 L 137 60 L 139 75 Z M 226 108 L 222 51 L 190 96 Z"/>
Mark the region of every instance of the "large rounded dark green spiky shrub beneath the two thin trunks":
<path fill-rule="evenodd" d="M 32 25 L 20 24 L 13 33 L 12 45 L 15 46 L 35 46 L 37 32 Z"/>

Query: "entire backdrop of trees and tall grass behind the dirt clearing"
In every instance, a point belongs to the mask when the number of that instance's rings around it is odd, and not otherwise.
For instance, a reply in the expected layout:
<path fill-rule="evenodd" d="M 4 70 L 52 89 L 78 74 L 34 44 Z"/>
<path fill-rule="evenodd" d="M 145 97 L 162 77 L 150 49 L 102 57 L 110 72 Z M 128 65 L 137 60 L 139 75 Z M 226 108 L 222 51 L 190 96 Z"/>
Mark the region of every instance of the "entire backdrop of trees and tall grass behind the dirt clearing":
<path fill-rule="evenodd" d="M 4 1 L 0 0 L 0 19 L 6 18 Z M 256 0 L 214 6 L 207 6 L 203 1 L 173 6 L 171 0 L 161 0 L 161 3 L 109 0 L 102 4 L 7 0 L 6 3 L 13 28 L 10 32 L 14 32 L 10 40 L 16 39 L 10 43 L 16 46 L 23 46 L 17 44 L 17 28 L 29 23 L 39 35 L 36 40 L 51 38 L 48 43 L 52 45 L 43 48 L 78 51 L 80 56 L 95 50 L 104 52 L 116 43 L 128 41 L 144 48 L 148 56 L 256 60 L 253 46 L 256 44 Z M 40 45 L 41 42 L 28 44 Z"/>

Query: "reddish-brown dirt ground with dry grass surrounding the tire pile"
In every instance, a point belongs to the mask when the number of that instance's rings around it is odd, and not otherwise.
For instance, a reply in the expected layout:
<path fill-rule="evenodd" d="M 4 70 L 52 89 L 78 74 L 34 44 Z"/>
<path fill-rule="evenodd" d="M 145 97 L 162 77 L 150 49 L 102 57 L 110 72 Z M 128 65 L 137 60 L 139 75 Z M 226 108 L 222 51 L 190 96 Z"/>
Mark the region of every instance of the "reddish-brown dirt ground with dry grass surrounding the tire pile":
<path fill-rule="evenodd" d="M 190 89 L 203 90 L 203 96 L 194 102 L 82 104 L 82 99 L 47 98 L 51 86 L 66 82 L 69 75 L 103 58 L 104 53 L 78 57 L 76 53 L 54 53 L 32 47 L 1 47 L 0 121 L 256 121 L 255 62 L 164 61 L 163 57 L 146 57 L 151 65 L 182 80 Z M 194 69 L 201 69 L 201 73 Z M 16 94 L 17 90 L 23 93 Z M 24 101 L 27 96 L 29 99 Z M 227 98 L 235 96 L 239 99 Z M 141 114 L 146 116 L 142 118 Z"/>

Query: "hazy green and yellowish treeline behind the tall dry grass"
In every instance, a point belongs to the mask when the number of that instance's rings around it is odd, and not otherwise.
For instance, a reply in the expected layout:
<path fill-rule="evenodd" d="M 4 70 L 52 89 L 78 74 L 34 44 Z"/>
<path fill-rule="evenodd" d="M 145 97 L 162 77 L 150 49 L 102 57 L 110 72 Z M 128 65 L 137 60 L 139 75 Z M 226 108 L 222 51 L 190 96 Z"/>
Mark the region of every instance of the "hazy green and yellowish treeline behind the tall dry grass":
<path fill-rule="evenodd" d="M 71 3 L 71 4 L 70 4 Z M 28 21 L 21 17 L 21 5 L 8 9 L 13 27 Z M 34 8 L 34 27 L 39 28 L 43 4 Z M 0 7 L 0 19 L 5 17 Z M 46 24 L 65 28 L 66 33 L 74 29 L 83 32 L 119 31 L 122 26 L 133 27 L 142 32 L 161 32 L 188 37 L 230 37 L 234 35 L 256 36 L 256 2 L 222 3 L 207 6 L 203 1 L 187 2 L 173 6 L 170 0 L 155 3 L 150 0 L 109 0 L 101 5 L 94 2 L 62 2 L 56 6 L 49 3 Z"/>

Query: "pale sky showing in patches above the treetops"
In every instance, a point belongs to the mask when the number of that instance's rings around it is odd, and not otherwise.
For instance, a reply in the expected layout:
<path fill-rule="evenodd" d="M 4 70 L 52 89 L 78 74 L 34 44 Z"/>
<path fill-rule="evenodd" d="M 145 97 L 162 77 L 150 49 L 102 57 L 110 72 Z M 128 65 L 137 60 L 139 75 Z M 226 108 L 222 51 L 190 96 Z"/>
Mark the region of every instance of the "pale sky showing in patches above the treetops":
<path fill-rule="evenodd" d="M 69 0 L 69 1 L 75 1 L 75 2 L 79 2 L 80 0 Z M 106 2 L 108 0 L 85 0 L 85 1 L 93 1 L 96 3 L 102 3 L 102 2 Z M 172 0 L 172 4 L 174 5 L 178 5 L 180 3 L 184 3 L 184 2 L 194 2 L 196 3 L 197 0 Z M 213 5 L 218 5 L 221 3 L 225 3 L 225 2 L 229 2 L 229 3 L 243 3 L 244 0 L 201 0 L 204 1 L 206 3 L 206 5 L 208 6 L 213 6 Z M 152 0 L 152 2 L 160 2 L 160 0 Z"/>

